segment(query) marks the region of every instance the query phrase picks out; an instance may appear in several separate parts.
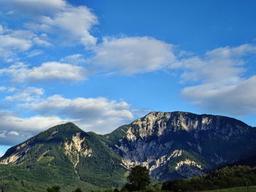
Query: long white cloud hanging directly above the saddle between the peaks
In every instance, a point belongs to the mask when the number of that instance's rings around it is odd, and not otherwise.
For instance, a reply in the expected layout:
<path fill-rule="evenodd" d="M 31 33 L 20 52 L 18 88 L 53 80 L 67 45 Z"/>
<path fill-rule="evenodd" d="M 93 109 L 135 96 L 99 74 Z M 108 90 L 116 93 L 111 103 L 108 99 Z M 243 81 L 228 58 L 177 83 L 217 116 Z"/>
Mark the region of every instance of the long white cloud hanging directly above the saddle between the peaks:
<path fill-rule="evenodd" d="M 76 119 L 78 125 L 86 131 L 105 134 L 134 117 L 127 102 L 108 101 L 105 98 L 66 99 L 59 95 L 48 97 L 43 101 L 21 104 L 40 115 L 60 115 Z"/>

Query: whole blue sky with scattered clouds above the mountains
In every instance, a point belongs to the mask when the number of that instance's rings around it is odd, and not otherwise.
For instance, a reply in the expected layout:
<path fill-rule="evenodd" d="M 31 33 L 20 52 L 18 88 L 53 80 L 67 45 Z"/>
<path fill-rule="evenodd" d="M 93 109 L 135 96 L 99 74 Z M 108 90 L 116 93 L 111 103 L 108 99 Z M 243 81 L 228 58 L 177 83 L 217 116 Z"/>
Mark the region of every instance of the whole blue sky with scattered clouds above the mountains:
<path fill-rule="evenodd" d="M 254 0 L 0 0 L 0 156 L 51 126 L 151 111 L 256 126 Z"/>

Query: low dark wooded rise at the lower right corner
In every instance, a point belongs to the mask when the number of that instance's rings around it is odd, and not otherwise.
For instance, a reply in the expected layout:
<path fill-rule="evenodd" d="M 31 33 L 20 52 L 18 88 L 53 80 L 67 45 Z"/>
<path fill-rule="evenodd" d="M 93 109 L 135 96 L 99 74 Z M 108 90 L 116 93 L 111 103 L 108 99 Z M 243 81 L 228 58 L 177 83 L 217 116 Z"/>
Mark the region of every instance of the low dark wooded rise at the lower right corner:
<path fill-rule="evenodd" d="M 256 185 L 256 167 L 232 166 L 214 170 L 200 177 L 171 180 L 162 184 L 165 191 L 203 191 Z"/>

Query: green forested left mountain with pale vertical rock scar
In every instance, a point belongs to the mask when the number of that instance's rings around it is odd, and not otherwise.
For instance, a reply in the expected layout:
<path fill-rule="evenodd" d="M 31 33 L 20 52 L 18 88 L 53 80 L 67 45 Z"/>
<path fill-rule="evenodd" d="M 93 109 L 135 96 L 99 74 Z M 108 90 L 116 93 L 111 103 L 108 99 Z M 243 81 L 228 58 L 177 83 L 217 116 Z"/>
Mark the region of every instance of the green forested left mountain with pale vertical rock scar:
<path fill-rule="evenodd" d="M 0 158 L 0 191 L 45 191 L 56 184 L 67 191 L 120 186 L 126 169 L 98 137 L 67 123 L 11 147 Z"/>

